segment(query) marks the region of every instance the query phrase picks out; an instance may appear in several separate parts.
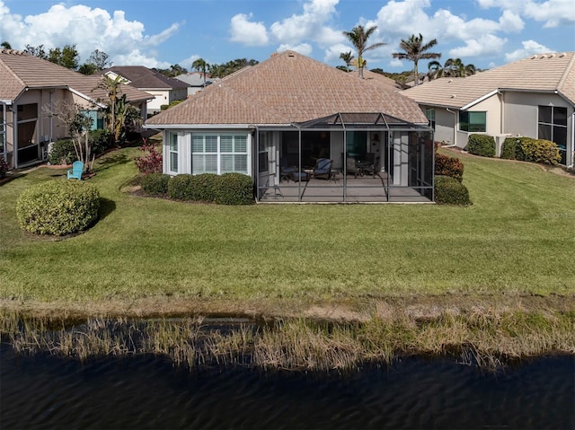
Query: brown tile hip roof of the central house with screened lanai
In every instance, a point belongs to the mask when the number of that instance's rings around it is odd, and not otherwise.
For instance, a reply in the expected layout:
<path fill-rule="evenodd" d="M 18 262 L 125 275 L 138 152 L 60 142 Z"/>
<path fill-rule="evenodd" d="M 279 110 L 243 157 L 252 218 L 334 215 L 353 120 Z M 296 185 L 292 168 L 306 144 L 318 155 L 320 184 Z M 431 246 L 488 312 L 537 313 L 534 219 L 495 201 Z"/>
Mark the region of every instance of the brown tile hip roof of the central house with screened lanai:
<path fill-rule="evenodd" d="M 387 83 L 358 79 L 285 51 L 226 76 L 178 106 L 149 118 L 146 124 L 291 124 L 339 112 L 377 112 L 406 122 L 428 123 L 416 102 Z"/>

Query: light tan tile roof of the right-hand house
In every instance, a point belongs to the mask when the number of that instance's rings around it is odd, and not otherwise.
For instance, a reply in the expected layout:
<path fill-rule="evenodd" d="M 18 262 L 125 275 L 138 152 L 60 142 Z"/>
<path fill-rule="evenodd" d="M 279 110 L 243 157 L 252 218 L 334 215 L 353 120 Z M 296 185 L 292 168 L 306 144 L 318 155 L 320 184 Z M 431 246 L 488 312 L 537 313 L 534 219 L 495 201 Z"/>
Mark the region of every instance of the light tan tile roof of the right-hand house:
<path fill-rule="evenodd" d="M 575 103 L 575 52 L 540 54 L 465 78 L 441 78 L 405 90 L 420 104 L 463 108 L 496 90 L 559 92 Z"/>

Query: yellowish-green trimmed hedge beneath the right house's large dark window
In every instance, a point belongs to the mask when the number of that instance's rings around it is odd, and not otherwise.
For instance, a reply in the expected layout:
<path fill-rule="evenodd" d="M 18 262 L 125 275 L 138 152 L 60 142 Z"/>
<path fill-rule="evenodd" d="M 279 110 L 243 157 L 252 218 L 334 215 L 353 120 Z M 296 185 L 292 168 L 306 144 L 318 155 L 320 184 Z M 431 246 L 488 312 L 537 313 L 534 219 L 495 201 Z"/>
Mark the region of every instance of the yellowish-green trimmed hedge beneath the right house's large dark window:
<path fill-rule="evenodd" d="M 531 137 L 508 137 L 501 147 L 501 158 L 555 165 L 561 161 L 554 142 Z"/>

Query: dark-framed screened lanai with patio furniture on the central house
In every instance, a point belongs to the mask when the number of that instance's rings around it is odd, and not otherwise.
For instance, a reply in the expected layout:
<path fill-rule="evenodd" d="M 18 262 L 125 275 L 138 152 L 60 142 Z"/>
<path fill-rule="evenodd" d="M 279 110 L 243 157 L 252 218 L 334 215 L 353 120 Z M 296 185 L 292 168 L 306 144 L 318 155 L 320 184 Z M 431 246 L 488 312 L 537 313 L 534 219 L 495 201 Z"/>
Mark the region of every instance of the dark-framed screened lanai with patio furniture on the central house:
<path fill-rule="evenodd" d="M 433 130 L 384 113 L 255 127 L 261 203 L 429 203 Z"/>

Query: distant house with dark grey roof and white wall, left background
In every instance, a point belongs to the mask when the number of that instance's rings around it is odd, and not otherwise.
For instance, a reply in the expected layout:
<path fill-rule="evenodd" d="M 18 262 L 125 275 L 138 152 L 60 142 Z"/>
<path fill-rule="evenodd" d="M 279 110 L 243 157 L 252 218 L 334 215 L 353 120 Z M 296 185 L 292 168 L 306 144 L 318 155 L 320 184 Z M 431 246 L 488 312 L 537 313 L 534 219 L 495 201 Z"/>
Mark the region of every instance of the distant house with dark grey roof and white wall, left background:
<path fill-rule="evenodd" d="M 167 106 L 172 101 L 186 100 L 188 97 L 188 83 L 164 76 L 145 66 L 112 66 L 99 74 L 107 75 L 111 79 L 116 79 L 119 75 L 123 78 L 123 83 L 129 83 L 138 90 L 152 94 L 154 99 L 147 102 L 149 114 L 159 112 L 163 105 Z"/>

